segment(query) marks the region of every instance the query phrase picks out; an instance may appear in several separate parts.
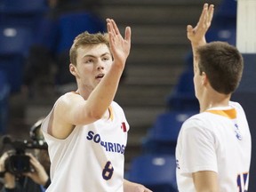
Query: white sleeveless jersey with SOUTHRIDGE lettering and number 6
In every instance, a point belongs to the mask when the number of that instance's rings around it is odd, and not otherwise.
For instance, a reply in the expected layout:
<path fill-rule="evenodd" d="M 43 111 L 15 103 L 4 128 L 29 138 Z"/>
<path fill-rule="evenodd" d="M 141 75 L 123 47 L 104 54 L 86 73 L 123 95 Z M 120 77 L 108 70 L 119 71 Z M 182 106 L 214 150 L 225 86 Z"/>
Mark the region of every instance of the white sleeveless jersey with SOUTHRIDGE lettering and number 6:
<path fill-rule="evenodd" d="M 76 126 L 65 140 L 47 133 L 52 112 L 42 124 L 51 159 L 52 183 L 47 192 L 123 192 L 127 123 L 112 102 L 111 117 Z M 52 109 L 53 111 L 53 109 Z"/>

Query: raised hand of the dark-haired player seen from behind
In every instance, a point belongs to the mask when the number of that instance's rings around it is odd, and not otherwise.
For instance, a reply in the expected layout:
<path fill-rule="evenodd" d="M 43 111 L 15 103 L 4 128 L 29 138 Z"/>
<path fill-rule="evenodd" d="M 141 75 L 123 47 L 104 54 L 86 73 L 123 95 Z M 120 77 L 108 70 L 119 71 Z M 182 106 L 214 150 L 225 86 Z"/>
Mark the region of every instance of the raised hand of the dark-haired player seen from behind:
<path fill-rule="evenodd" d="M 214 12 L 213 4 L 204 4 L 203 11 L 201 16 L 196 24 L 196 27 L 193 28 L 191 25 L 187 26 L 187 36 L 191 44 L 205 44 L 205 34 L 210 28 L 212 23 L 212 17 Z"/>

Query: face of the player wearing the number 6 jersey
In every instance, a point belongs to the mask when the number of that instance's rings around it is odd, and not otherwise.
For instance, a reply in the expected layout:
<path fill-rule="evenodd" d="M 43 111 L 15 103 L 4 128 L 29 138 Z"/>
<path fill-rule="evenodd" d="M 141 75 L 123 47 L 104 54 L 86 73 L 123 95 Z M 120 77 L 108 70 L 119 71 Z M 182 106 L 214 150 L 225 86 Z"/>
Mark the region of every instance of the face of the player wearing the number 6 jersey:
<path fill-rule="evenodd" d="M 112 56 L 106 44 L 79 47 L 76 58 L 77 81 L 93 90 L 107 74 L 112 62 Z"/>

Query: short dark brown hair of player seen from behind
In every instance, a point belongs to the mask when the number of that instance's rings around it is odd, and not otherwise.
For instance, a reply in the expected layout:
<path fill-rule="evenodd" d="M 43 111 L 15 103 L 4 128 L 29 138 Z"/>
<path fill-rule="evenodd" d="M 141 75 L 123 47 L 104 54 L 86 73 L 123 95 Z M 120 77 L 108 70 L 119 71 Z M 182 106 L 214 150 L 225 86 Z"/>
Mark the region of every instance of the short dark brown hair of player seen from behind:
<path fill-rule="evenodd" d="M 212 88 L 220 93 L 229 94 L 236 91 L 244 69 L 244 60 L 235 46 L 212 42 L 198 47 L 199 73 L 206 74 Z"/>

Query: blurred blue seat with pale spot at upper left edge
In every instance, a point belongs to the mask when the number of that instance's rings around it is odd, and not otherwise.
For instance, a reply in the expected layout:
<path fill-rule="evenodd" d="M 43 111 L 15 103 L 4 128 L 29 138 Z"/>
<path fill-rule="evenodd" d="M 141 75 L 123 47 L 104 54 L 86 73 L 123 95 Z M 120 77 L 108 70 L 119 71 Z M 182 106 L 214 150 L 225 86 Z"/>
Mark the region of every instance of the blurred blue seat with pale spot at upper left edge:
<path fill-rule="evenodd" d="M 29 28 L 0 26 L 0 69 L 7 75 L 11 92 L 20 91 L 31 33 Z"/>

